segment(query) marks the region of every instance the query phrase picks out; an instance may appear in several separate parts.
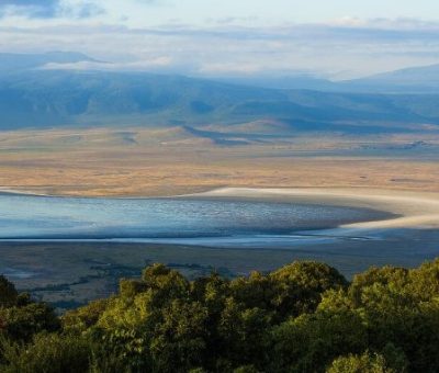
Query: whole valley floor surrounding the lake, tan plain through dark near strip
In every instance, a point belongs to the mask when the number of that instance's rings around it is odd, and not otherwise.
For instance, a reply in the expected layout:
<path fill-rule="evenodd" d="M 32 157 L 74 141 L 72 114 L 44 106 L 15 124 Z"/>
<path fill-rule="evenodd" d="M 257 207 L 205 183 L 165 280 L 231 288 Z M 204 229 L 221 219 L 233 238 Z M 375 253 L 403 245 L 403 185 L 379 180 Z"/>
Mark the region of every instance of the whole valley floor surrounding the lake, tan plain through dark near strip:
<path fill-rule="evenodd" d="M 271 249 L 3 241 L 0 271 L 20 289 L 66 308 L 108 296 L 120 278 L 138 275 L 151 262 L 189 276 L 212 269 L 230 276 L 269 271 L 295 259 L 328 262 L 348 276 L 370 265 L 416 267 L 439 255 L 438 160 L 439 138 L 424 135 L 320 134 L 232 146 L 179 128 L 0 133 L 3 191 L 127 197 L 216 189 L 204 197 L 294 197 L 398 215 L 342 227 L 335 242 Z M 345 240 L 344 231 L 362 239 Z"/>

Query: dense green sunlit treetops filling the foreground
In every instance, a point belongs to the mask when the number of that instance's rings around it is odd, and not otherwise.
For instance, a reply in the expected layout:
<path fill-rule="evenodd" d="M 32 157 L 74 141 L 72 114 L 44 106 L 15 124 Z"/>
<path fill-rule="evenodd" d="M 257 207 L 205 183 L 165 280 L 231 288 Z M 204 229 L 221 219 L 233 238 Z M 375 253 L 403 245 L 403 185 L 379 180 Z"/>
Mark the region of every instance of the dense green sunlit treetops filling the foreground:
<path fill-rule="evenodd" d="M 294 262 L 188 281 L 161 264 L 57 317 L 0 276 L 1 372 L 437 372 L 439 260 L 351 283 Z"/>

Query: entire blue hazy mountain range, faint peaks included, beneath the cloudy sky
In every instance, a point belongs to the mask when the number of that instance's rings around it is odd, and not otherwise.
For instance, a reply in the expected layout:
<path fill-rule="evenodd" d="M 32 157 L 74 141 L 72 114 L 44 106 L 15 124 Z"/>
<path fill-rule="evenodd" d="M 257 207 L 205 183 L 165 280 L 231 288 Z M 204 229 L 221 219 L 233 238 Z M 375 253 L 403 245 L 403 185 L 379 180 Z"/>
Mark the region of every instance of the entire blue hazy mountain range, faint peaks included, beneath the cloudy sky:
<path fill-rule="evenodd" d="M 282 123 L 278 132 L 439 129 L 437 66 L 344 82 L 291 77 L 282 87 L 282 79 L 263 77 L 224 82 L 45 68 L 83 61 L 98 63 L 77 53 L 0 54 L 0 128 L 177 125 L 203 131 L 212 123 L 229 126 L 266 120 Z"/>

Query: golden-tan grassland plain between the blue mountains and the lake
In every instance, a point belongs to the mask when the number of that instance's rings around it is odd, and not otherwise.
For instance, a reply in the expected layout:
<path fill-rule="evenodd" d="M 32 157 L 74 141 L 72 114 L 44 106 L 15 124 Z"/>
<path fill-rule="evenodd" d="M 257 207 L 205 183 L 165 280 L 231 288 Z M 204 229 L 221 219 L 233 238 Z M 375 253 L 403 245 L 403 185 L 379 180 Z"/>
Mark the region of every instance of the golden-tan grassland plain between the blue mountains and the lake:
<path fill-rule="evenodd" d="M 181 127 L 2 132 L 0 185 L 87 196 L 166 196 L 221 187 L 439 191 L 439 135 L 262 140 L 247 132 L 227 137 L 233 145 Z"/>

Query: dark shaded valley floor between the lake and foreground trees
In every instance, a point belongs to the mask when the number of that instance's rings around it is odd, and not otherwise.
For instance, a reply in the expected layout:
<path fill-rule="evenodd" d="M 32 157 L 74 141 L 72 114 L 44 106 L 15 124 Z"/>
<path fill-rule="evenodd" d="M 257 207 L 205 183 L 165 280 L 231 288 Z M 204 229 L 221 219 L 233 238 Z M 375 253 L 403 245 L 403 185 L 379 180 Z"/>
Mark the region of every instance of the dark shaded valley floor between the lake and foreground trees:
<path fill-rule="evenodd" d="M 270 271 L 294 260 L 327 262 L 351 278 L 371 265 L 414 268 L 439 256 L 436 229 L 390 229 L 368 239 L 267 248 L 122 242 L 0 242 L 0 271 L 21 290 L 70 308 L 113 294 L 121 278 L 160 262 L 194 278 Z"/>

